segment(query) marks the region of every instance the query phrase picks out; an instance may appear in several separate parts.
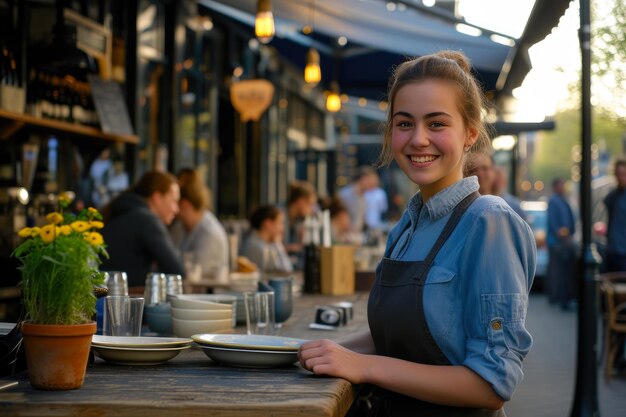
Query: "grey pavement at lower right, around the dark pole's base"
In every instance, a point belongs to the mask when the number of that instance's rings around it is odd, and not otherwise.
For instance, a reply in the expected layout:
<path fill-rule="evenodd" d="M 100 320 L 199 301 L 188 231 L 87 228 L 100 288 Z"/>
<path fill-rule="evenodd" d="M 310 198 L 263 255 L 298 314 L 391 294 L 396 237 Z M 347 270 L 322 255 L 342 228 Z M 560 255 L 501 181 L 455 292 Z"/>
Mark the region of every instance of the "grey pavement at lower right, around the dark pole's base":
<path fill-rule="evenodd" d="M 507 417 L 569 417 L 576 382 L 576 312 L 551 306 L 544 294 L 531 294 L 526 325 L 534 345 L 524 361 L 524 381 L 505 406 Z M 598 344 L 598 349 L 602 344 Z M 604 382 L 598 367 L 599 417 L 626 415 L 626 377 Z"/>

